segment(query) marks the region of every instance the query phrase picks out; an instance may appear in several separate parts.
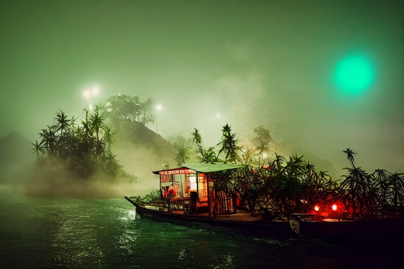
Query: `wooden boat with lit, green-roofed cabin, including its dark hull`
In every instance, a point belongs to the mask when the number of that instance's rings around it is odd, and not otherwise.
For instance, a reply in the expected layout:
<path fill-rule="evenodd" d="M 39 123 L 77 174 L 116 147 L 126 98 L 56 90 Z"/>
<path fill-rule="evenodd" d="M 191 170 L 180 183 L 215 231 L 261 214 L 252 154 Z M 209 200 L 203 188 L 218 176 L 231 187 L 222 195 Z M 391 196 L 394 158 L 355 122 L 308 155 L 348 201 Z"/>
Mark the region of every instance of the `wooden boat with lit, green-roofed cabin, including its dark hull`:
<path fill-rule="evenodd" d="M 287 219 L 263 220 L 251 213 L 234 213 L 233 198 L 224 191 L 216 191 L 214 173 L 244 168 L 242 164 L 185 163 L 182 167 L 154 171 L 159 175 L 160 207 L 139 205 L 125 196 L 136 207 L 140 216 L 169 221 L 180 225 L 221 228 L 276 238 L 296 237 Z"/>

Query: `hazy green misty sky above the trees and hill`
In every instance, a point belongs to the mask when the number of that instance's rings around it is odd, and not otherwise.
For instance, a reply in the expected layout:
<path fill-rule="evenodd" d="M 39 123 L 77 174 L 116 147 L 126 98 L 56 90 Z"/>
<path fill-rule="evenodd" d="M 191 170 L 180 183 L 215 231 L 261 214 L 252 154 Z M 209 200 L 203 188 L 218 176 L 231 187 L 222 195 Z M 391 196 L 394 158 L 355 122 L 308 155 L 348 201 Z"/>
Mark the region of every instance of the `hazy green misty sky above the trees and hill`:
<path fill-rule="evenodd" d="M 350 147 L 404 172 L 403 18 L 402 1 L 0 0 L 0 136 L 127 93 L 161 104 L 163 137 L 263 125 L 337 169 Z"/>

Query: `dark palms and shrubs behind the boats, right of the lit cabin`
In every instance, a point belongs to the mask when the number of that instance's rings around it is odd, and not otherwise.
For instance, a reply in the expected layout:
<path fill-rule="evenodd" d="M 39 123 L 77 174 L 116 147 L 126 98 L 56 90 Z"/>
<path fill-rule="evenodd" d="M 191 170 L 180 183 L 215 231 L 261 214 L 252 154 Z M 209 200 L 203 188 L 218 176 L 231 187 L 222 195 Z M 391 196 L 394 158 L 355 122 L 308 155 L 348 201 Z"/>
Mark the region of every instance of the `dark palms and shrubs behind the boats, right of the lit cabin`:
<path fill-rule="evenodd" d="M 383 169 L 366 173 L 355 165 L 355 153 L 347 148 L 343 152 L 347 154 L 350 167 L 343 169 L 346 173 L 341 178 L 333 179 L 326 171 L 304 160 L 303 155 L 285 157 L 271 152 L 269 130 L 258 127 L 254 131 L 256 137 L 251 143 L 239 143 L 227 124 L 223 126 L 220 142 L 208 148 L 204 148 L 199 130 L 195 128 L 191 133 L 197 154 L 193 160 L 208 164 L 245 164 L 245 168 L 214 175 L 216 192 L 232 198 L 234 212 L 248 210 L 274 217 L 313 212 L 317 207 L 322 208 L 320 215 L 326 217 L 335 204 L 340 217 L 367 218 L 404 206 L 404 173 Z M 178 164 L 191 159 L 189 140 L 181 138 L 177 144 L 181 145 L 176 147 Z"/>

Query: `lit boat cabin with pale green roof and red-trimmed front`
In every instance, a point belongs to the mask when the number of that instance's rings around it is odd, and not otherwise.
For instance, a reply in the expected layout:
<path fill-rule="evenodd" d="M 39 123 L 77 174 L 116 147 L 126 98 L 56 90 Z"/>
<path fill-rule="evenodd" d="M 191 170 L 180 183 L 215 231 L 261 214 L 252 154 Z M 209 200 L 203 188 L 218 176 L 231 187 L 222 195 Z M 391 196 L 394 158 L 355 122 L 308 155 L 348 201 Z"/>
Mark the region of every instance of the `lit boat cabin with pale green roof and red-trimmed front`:
<path fill-rule="evenodd" d="M 213 173 L 244 167 L 242 164 L 185 163 L 180 168 L 153 171 L 160 177 L 161 210 L 187 214 L 230 214 L 232 198 L 215 190 Z"/>

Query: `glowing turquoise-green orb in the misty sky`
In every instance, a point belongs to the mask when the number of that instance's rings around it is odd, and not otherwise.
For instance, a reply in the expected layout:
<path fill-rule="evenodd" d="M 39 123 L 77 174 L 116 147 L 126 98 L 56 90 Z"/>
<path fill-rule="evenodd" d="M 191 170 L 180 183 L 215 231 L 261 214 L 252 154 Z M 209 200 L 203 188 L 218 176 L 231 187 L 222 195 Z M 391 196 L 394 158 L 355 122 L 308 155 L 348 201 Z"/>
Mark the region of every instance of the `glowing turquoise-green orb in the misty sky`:
<path fill-rule="evenodd" d="M 344 93 L 362 93 L 373 81 L 373 68 L 364 55 L 349 54 L 335 67 L 334 82 Z"/>

